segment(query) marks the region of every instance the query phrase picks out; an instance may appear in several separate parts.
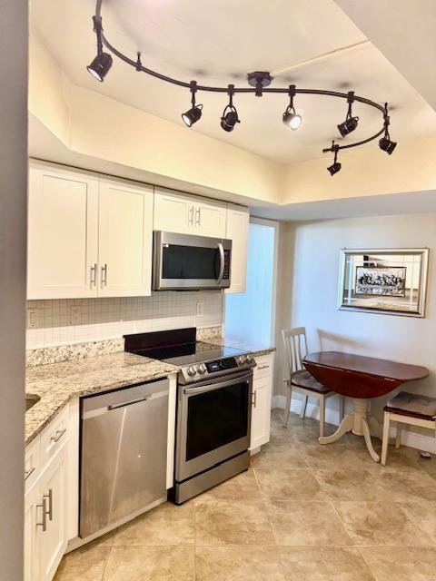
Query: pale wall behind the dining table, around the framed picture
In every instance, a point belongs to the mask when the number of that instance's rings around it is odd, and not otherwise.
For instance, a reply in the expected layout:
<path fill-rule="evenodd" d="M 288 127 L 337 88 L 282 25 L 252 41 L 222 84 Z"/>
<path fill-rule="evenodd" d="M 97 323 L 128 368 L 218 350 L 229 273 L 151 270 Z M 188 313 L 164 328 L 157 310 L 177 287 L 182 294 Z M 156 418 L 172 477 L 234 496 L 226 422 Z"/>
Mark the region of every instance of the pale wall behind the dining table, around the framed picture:
<path fill-rule="evenodd" d="M 436 395 L 436 214 L 283 224 L 279 248 L 276 389 L 284 393 L 284 327 L 305 326 L 310 350 L 344 350 L 424 365 L 407 389 Z M 342 248 L 430 247 L 425 319 L 337 310 Z M 381 414 L 384 399 L 374 406 Z M 336 401 L 328 406 L 336 408 Z"/>

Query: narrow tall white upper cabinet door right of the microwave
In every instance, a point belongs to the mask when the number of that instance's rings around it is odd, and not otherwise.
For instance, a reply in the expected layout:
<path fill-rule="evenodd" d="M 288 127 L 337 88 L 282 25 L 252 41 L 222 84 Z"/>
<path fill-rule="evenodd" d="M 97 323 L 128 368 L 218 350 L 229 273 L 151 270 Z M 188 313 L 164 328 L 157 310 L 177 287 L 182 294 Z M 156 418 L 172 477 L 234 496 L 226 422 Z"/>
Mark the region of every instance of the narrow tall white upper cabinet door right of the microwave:
<path fill-rule="evenodd" d="M 227 205 L 226 238 L 232 241 L 231 285 L 225 292 L 245 292 L 247 279 L 248 208 Z"/>

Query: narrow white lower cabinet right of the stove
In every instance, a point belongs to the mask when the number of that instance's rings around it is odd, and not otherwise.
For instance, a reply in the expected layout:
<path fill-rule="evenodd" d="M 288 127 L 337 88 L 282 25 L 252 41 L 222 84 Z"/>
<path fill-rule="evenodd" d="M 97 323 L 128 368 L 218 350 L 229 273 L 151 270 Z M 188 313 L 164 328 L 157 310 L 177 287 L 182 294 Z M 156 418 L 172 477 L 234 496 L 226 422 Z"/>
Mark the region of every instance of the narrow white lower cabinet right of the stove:
<path fill-rule="evenodd" d="M 250 449 L 270 441 L 271 399 L 273 355 L 256 357 L 257 366 L 253 370 L 252 431 Z"/>

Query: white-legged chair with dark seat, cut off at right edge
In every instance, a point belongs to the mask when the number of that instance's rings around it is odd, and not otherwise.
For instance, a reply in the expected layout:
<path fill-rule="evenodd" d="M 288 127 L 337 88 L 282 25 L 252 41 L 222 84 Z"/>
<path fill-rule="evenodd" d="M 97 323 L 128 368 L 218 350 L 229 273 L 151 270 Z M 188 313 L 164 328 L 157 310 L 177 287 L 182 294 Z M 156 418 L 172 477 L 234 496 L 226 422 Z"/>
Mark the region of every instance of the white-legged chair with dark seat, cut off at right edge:
<path fill-rule="evenodd" d="M 381 464 L 386 466 L 388 458 L 389 430 L 391 421 L 396 422 L 395 448 L 401 446 L 401 432 L 404 424 L 431 429 L 436 436 L 436 398 L 401 391 L 384 407 L 383 441 L 381 444 Z"/>

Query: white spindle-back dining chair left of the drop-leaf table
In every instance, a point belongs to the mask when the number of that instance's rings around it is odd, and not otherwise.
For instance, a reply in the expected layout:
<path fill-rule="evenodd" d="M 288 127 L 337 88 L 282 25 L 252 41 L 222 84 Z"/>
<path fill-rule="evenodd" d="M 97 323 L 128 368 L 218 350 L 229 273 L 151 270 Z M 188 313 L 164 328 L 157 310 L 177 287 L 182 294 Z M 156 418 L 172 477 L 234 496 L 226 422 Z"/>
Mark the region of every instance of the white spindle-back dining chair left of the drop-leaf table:
<path fill-rule="evenodd" d="M 287 428 L 289 414 L 291 411 L 292 392 L 300 393 L 303 396 L 301 418 L 304 418 L 309 398 L 318 399 L 320 406 L 320 437 L 324 435 L 325 428 L 325 400 L 336 395 L 334 391 L 327 389 L 319 383 L 312 375 L 304 369 L 302 359 L 307 353 L 306 330 L 304 327 L 294 329 L 282 329 L 282 340 L 286 358 L 288 361 L 289 378 L 283 379 L 286 394 L 286 409 L 284 412 L 283 428 Z M 340 421 L 343 418 L 343 397 L 340 401 Z"/>

